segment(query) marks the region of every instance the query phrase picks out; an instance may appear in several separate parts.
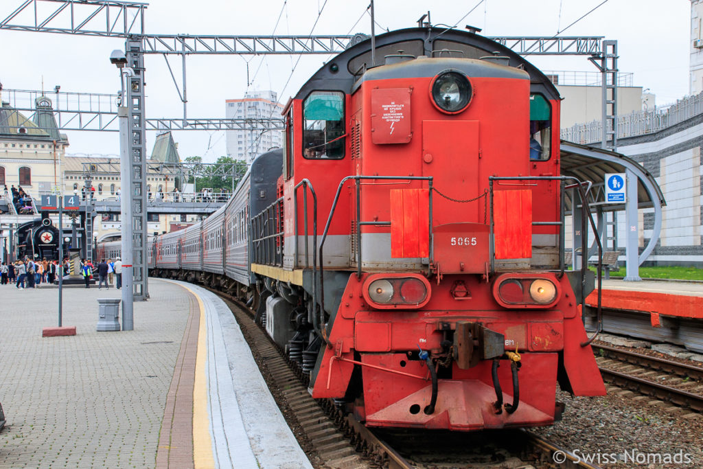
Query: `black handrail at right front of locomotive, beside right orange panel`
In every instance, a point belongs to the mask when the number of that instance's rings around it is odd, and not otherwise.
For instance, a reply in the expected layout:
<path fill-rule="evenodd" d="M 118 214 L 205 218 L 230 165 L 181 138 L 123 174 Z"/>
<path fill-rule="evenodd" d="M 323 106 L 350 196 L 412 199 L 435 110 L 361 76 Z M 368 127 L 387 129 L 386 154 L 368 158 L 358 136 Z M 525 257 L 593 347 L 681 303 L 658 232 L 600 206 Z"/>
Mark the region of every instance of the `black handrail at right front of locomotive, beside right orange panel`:
<path fill-rule="evenodd" d="M 576 184 L 574 184 L 574 187 L 577 187 L 579 189 L 579 196 L 581 197 L 581 252 L 587 252 L 587 245 L 588 245 L 588 236 L 586 236 L 586 229 L 588 226 L 586 225 L 586 217 L 583 216 L 583 214 L 588 215 L 588 221 L 591 222 L 591 228 L 593 228 L 593 233 L 598 233 L 598 229 L 595 226 L 595 221 L 593 221 L 593 214 L 591 214 L 591 206 L 588 204 L 588 198 L 586 197 L 586 193 L 588 190 L 584 191 L 583 190 L 583 184 L 586 184 L 585 181 L 580 181 L 578 178 L 574 176 L 489 176 L 489 192 L 491 196 L 491 224 L 490 224 L 490 236 L 489 236 L 489 251 L 490 251 L 490 256 L 491 256 L 491 273 L 495 271 L 495 254 L 494 254 L 494 222 L 493 222 L 493 182 L 494 181 L 561 181 L 560 184 L 560 218 L 561 218 L 561 223 L 562 226 L 564 225 L 564 218 L 565 218 L 565 213 L 564 213 L 564 191 L 565 191 L 565 181 L 575 181 Z M 588 186 L 588 189 L 590 190 L 591 186 Z M 572 214 L 574 213 L 575 210 L 575 205 L 572 205 Z M 560 236 L 559 236 L 559 266 L 560 266 L 560 275 L 564 274 L 564 243 L 565 243 L 565 233 L 563 230 L 560 230 Z M 591 342 L 595 340 L 595 338 L 600 334 L 600 332 L 603 329 L 603 321 L 602 321 L 602 307 L 601 307 L 601 287 L 602 287 L 602 274 L 601 274 L 601 269 L 602 269 L 602 260 L 603 260 L 603 246 L 602 243 L 600 242 L 600 237 L 598 235 L 594 236 L 595 238 L 595 243 L 598 244 L 598 269 L 596 271 L 596 278 L 598 278 L 598 310 L 597 310 L 597 318 L 598 318 L 598 327 L 595 330 L 595 333 L 591 338 L 586 340 L 585 342 L 581 342 L 581 347 L 586 347 L 587 345 L 591 345 Z M 586 310 L 586 295 L 583 295 L 583 292 L 586 291 L 586 271 L 588 271 L 588 262 L 584 262 L 585 258 L 581 259 L 581 311 L 583 314 L 583 311 Z"/>

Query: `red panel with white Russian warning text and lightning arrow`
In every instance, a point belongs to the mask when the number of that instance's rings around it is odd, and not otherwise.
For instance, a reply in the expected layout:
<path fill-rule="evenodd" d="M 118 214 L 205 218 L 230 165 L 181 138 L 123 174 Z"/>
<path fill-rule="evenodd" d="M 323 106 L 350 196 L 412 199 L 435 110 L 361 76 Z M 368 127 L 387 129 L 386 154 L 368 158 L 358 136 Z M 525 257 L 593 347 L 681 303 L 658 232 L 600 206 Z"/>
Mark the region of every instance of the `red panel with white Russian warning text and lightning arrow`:
<path fill-rule="evenodd" d="M 408 143 L 410 127 L 409 88 L 371 90 L 371 141 L 373 143 Z"/>

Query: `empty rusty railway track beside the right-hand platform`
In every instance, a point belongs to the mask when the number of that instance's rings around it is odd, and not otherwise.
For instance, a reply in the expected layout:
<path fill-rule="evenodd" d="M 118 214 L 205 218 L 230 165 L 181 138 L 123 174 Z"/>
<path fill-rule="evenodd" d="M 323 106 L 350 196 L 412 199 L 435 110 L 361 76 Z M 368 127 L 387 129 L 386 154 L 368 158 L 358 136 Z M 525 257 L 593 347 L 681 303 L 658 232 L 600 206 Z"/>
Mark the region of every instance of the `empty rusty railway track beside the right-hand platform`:
<path fill-rule="evenodd" d="M 608 383 L 703 412 L 703 368 L 600 343 L 593 347 Z"/>

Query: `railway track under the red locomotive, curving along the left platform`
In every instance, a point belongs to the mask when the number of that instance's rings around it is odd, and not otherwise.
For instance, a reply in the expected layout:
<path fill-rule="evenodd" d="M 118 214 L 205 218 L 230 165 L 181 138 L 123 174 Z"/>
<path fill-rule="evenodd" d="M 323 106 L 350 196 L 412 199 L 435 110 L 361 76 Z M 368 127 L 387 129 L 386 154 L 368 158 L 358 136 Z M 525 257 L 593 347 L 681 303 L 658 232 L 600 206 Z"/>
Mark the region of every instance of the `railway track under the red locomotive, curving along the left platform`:
<path fill-rule="evenodd" d="M 282 411 L 288 418 L 293 432 L 304 448 L 313 449 L 318 456 L 318 461 L 312 459 L 316 467 L 436 468 L 439 465 L 427 463 L 427 454 L 437 453 L 437 448 L 444 447 L 448 450 L 446 457 L 441 458 L 443 467 L 447 467 L 446 463 L 451 467 L 468 467 L 474 463 L 480 463 L 486 468 L 490 468 L 491 463 L 496 464 L 494 467 L 507 467 L 503 465 L 506 460 L 512 460 L 513 463 L 526 461 L 515 467 L 565 467 L 555 463 L 555 454 L 559 453 L 559 457 L 567 461 L 567 467 L 599 469 L 596 465 L 579 461 L 579 458 L 569 451 L 527 430 L 458 434 L 458 432 L 402 429 L 385 431 L 367 428 L 354 416 L 342 413 L 333 401 L 312 399 L 307 391 L 307 381 L 302 371 L 286 359 L 262 328 L 254 323 L 253 316 L 245 304 L 236 297 L 218 290 L 212 288 L 208 290 L 222 297 L 230 306 L 247 342 L 252 347 L 252 354 L 259 368 L 262 369 L 269 385 L 273 384 L 273 387 L 278 390 L 277 392 L 272 390 L 274 397 L 279 405 L 283 403 Z M 289 418 L 291 416 L 292 418 Z M 467 438 L 476 439 L 476 443 L 467 444 Z M 474 448 L 477 453 L 462 454 L 461 451 L 467 446 Z M 418 447 L 429 453 L 418 454 Z M 496 453 L 501 454 L 497 459 L 494 456 Z M 483 458 L 488 459 L 484 461 Z M 559 461 L 558 457 L 556 459 Z"/>

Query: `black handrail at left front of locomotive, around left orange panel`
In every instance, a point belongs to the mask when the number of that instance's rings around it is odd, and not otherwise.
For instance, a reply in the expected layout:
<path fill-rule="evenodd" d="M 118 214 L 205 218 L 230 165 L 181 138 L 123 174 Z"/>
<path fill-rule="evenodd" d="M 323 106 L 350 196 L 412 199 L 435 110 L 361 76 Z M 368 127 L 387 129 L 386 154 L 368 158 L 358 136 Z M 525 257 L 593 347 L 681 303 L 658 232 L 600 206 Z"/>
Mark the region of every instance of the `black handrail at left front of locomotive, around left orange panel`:
<path fill-rule="evenodd" d="M 354 219 L 356 220 L 356 276 L 361 278 L 361 224 L 363 223 L 361 218 L 361 186 L 359 181 L 363 179 L 382 179 L 386 181 L 427 181 L 430 189 L 430 258 L 432 258 L 432 176 L 345 176 L 342 181 L 340 181 L 339 186 L 337 186 L 337 193 L 335 193 L 335 198 L 332 202 L 332 207 L 330 207 L 330 214 L 327 217 L 327 223 L 325 224 L 325 229 L 322 233 L 322 240 L 320 241 L 320 307 L 322 309 L 321 314 L 324 317 L 325 314 L 325 288 L 324 288 L 324 264 L 323 261 L 323 248 L 325 245 L 325 240 L 327 239 L 327 232 L 330 229 L 330 224 L 332 223 L 332 217 L 335 214 L 335 209 L 337 208 L 337 202 L 340 199 L 340 193 L 342 192 L 342 187 L 344 183 L 353 179 L 356 183 L 356 215 Z M 366 223 L 364 223 L 366 224 Z M 321 329 L 323 330 L 323 339 L 328 342 L 326 338 L 326 326 L 321 324 Z M 328 342 L 329 344 L 329 342 Z"/>

